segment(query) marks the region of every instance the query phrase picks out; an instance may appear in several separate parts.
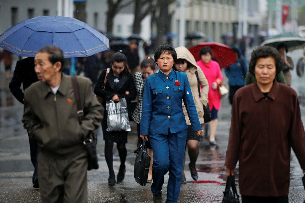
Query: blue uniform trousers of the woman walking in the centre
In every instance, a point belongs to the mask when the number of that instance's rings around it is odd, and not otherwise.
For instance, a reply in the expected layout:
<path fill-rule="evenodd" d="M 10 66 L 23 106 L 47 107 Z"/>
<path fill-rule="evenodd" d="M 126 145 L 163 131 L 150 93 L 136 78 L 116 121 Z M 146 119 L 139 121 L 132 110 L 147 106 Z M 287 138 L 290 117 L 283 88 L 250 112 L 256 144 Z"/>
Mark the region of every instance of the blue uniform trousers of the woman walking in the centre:
<path fill-rule="evenodd" d="M 186 130 L 168 135 L 149 133 L 153 151 L 152 194 L 162 190 L 164 175 L 169 172 L 167 184 L 167 203 L 177 202 L 180 187 L 186 143 Z"/>

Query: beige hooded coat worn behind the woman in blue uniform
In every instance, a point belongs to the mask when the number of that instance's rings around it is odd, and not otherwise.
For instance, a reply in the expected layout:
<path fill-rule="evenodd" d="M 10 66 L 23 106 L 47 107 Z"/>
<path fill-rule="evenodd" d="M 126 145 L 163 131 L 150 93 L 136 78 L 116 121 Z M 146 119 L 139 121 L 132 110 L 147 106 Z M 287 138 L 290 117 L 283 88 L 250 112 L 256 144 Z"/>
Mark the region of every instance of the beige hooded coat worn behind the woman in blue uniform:
<path fill-rule="evenodd" d="M 196 60 L 195 60 L 194 56 L 191 54 L 191 52 L 189 50 L 186 49 L 186 47 L 183 47 L 183 46 L 177 47 L 175 50 L 177 52 L 177 59 L 185 59 L 193 65 L 190 68 L 186 68 L 184 73 L 186 73 L 188 81 L 190 83 L 193 99 L 194 99 L 198 117 L 199 117 L 199 121 L 202 124 L 202 123 L 204 123 L 203 105 L 206 106 L 208 103 L 208 92 L 209 92 L 208 81 L 206 79 L 206 76 L 202 72 L 201 68 L 196 65 Z M 200 91 L 201 96 L 200 97 L 199 97 L 199 90 L 198 90 L 198 80 L 197 80 L 197 77 L 195 74 L 196 71 L 198 73 L 199 82 L 200 82 L 200 86 L 201 86 L 201 91 Z M 191 122 L 188 118 L 186 108 L 185 108 L 183 102 L 182 102 L 182 107 L 183 107 L 186 124 L 191 125 Z"/>

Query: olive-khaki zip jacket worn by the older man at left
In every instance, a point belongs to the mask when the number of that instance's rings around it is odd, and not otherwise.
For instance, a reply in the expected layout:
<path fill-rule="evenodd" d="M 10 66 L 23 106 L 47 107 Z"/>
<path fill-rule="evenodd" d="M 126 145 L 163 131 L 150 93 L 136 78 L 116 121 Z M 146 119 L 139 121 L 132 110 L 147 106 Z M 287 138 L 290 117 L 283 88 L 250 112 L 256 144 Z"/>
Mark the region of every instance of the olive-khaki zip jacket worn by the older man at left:
<path fill-rule="evenodd" d="M 73 156 L 85 150 L 83 140 L 97 129 L 104 108 L 92 93 L 88 78 L 77 77 L 84 119 L 80 125 L 71 77 L 62 74 L 61 84 L 54 94 L 43 82 L 33 83 L 25 92 L 22 122 L 30 138 L 35 138 L 42 153 Z"/>

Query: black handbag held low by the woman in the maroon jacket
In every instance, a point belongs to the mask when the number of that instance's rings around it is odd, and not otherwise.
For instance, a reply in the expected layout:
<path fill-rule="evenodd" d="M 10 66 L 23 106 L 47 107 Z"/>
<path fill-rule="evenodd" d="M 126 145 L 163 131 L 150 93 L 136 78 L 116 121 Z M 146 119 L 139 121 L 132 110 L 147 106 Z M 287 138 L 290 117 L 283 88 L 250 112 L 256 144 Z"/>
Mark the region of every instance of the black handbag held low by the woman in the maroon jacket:
<path fill-rule="evenodd" d="M 232 191 L 231 191 L 232 187 Z M 239 203 L 239 195 L 237 194 L 235 186 L 235 177 L 230 175 L 227 178 L 227 183 L 225 185 L 224 198 L 221 203 Z"/>

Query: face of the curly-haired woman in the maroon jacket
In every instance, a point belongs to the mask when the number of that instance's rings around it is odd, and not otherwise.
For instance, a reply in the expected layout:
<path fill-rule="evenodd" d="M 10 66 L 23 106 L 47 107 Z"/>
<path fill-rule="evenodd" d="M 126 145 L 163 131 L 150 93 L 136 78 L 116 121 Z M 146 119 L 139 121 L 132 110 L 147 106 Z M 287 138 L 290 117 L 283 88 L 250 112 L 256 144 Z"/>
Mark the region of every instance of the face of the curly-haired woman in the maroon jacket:
<path fill-rule="evenodd" d="M 255 65 L 254 74 L 259 85 L 265 86 L 273 83 L 276 75 L 274 58 L 259 58 Z"/>

